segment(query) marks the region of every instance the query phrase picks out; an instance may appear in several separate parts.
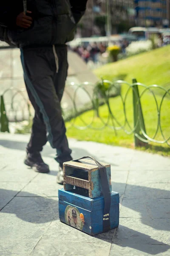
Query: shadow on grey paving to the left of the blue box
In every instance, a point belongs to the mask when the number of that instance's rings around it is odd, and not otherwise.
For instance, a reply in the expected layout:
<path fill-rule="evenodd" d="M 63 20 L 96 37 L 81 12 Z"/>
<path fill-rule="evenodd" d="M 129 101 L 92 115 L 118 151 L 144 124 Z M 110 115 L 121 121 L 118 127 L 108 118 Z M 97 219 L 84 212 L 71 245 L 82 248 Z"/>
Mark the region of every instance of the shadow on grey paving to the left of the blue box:
<path fill-rule="evenodd" d="M 0 198 L 6 195 L 8 198 L 13 198 L 17 193 L 18 191 L 0 189 Z M 0 213 L 1 215 L 2 213 L 15 214 L 17 218 L 30 223 L 51 222 L 56 215 L 59 216 L 58 198 L 54 200 L 25 192 L 24 196 L 15 196 L 10 203 L 1 209 Z"/>

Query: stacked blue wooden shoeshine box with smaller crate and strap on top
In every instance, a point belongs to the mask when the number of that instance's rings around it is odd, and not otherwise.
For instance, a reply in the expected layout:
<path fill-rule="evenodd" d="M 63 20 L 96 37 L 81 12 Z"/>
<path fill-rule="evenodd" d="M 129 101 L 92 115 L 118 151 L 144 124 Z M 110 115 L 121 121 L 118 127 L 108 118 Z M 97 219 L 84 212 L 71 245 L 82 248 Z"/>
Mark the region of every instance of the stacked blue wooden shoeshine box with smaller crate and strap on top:
<path fill-rule="evenodd" d="M 87 158 L 87 157 L 83 157 Z M 119 226 L 119 193 L 111 192 L 111 166 L 83 159 L 63 164 L 59 219 L 91 236 Z"/>

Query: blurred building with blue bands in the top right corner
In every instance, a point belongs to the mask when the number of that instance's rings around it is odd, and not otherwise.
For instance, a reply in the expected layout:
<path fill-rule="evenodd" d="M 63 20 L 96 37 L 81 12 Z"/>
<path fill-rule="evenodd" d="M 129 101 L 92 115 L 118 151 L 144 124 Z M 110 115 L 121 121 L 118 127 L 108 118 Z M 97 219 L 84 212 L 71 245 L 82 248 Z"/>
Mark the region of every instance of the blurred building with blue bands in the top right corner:
<path fill-rule="evenodd" d="M 135 0 L 136 26 L 169 27 L 170 0 Z"/>

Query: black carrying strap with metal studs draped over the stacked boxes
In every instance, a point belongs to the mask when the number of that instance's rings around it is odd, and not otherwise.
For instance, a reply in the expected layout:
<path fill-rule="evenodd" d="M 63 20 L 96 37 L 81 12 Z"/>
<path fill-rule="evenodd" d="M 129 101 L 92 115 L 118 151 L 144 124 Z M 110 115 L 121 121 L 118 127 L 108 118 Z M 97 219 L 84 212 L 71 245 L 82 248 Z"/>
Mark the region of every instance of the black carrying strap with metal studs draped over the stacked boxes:
<path fill-rule="evenodd" d="M 99 167 L 100 179 L 101 179 L 101 184 L 102 184 L 102 192 L 103 192 L 104 199 L 105 199 L 105 208 L 104 208 L 104 213 L 103 213 L 103 231 L 108 231 L 111 229 L 111 224 L 110 224 L 111 192 L 109 189 L 106 167 L 104 165 L 102 165 L 102 163 L 99 163 L 94 157 L 81 157 L 81 158 L 73 160 L 73 161 L 77 162 L 84 158 L 91 158 L 92 160 L 94 160 L 96 165 Z"/>

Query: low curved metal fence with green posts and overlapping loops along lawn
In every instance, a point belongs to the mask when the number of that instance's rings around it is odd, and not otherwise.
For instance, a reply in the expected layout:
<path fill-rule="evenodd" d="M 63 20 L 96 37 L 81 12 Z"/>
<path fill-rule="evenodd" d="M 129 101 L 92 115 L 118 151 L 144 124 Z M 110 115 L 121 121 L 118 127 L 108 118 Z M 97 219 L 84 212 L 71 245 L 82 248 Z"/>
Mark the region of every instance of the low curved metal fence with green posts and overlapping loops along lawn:
<path fill-rule="evenodd" d="M 122 86 L 126 86 L 127 90 L 122 91 Z M 159 90 L 159 96 L 157 96 L 155 93 L 155 89 Z M 4 101 L 4 97 L 9 90 L 15 91 L 11 98 L 10 104 L 9 102 L 7 103 Z M 16 102 L 15 99 L 17 99 L 18 95 L 20 95 L 23 100 L 17 100 Z M 156 113 L 148 113 L 150 115 L 155 114 L 155 119 L 157 119 L 153 136 L 147 134 L 142 111 L 142 100 L 146 95 L 147 97 L 149 96 L 150 99 L 153 99 L 153 104 L 156 108 Z M 73 126 L 81 130 L 87 128 L 102 130 L 105 127 L 109 127 L 113 129 L 115 135 L 117 134 L 117 131 L 120 130 L 125 131 L 125 133 L 129 135 L 134 134 L 136 146 L 146 146 L 149 141 L 159 144 L 167 143 L 167 145 L 170 146 L 170 134 L 165 136 L 161 120 L 161 112 L 164 101 L 170 99 L 170 88 L 165 89 L 164 87 L 156 84 L 146 86 L 138 83 L 136 79 L 133 79 L 132 84 L 122 80 L 112 82 L 108 80 L 101 80 L 95 86 L 94 84 L 89 84 L 88 82 L 83 84 L 68 84 L 65 88 L 64 97 L 65 102 L 62 104 L 62 111 L 65 121 L 69 122 L 69 127 Z M 122 106 L 122 115 L 124 119 L 123 123 L 119 120 L 119 117 L 116 116 L 116 113 L 113 110 L 113 97 L 115 97 L 115 100 L 119 97 L 121 102 L 120 105 Z M 113 99 L 112 103 L 111 99 Z M 25 107 L 21 105 L 21 102 L 23 102 L 22 104 L 24 104 Z M 128 111 L 127 103 L 131 104 L 131 108 L 128 108 Z M 103 118 L 100 114 L 100 108 L 102 105 L 105 105 L 107 109 L 105 118 Z M 81 115 L 88 110 L 93 111 L 89 123 L 87 123 Z M 18 115 L 18 111 L 20 111 L 20 115 Z M 7 127 L 11 112 L 14 115 L 13 121 L 15 122 L 31 119 L 32 113 L 30 110 L 30 103 L 23 94 L 22 90 L 10 88 L 1 95 L 1 131 L 9 131 Z M 129 121 L 127 112 L 133 114 L 133 122 Z M 167 113 L 167 115 L 169 114 Z M 100 119 L 101 125 L 99 127 L 95 126 L 96 117 Z M 77 125 L 77 118 L 81 120 L 82 125 Z M 162 140 L 156 139 L 158 135 L 161 135 Z"/>

